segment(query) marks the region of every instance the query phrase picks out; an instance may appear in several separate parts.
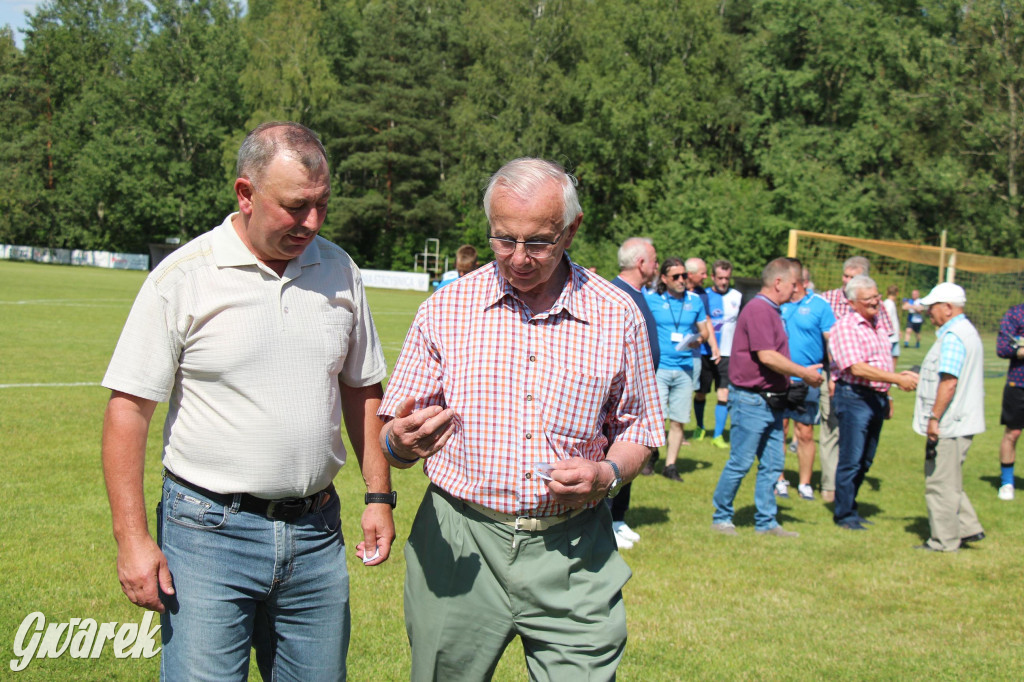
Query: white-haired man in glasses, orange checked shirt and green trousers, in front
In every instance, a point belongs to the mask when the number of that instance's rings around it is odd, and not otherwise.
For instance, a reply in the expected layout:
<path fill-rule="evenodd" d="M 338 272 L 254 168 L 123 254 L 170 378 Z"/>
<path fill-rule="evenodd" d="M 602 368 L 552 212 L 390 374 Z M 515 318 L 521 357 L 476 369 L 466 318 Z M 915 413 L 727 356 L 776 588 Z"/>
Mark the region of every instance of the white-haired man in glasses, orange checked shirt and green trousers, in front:
<path fill-rule="evenodd" d="M 664 443 L 643 317 L 572 263 L 571 176 L 512 161 L 483 197 L 496 262 L 427 299 L 379 414 L 392 465 L 430 478 L 406 546 L 414 680 L 612 679 L 626 645 L 602 501 Z"/>

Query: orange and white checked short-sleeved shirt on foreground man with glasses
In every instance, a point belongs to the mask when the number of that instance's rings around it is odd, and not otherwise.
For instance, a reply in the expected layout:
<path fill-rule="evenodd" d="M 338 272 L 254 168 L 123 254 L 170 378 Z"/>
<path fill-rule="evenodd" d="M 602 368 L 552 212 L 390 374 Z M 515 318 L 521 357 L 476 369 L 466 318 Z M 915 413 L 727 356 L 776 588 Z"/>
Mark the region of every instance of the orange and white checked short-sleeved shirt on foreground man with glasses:
<path fill-rule="evenodd" d="M 539 462 L 599 462 L 609 440 L 665 442 L 643 316 L 623 291 L 569 261 L 550 310 L 532 314 L 496 263 L 430 296 L 409 330 L 378 414 L 452 408 L 456 430 L 424 462 L 450 495 L 550 516 Z M 595 503 L 596 504 L 596 503 Z"/>

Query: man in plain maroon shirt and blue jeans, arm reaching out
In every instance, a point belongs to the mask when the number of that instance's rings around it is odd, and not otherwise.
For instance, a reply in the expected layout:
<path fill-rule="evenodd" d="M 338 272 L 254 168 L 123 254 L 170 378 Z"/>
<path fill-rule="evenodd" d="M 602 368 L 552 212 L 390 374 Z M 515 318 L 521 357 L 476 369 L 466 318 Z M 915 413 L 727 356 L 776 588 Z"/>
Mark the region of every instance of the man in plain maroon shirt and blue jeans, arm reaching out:
<path fill-rule="evenodd" d="M 712 528 L 735 536 L 733 501 L 743 476 L 758 464 L 754 489 L 754 527 L 759 535 L 795 538 L 796 532 L 778 524 L 773 492 L 782 472 L 782 411 L 790 377 L 799 377 L 809 386 L 821 385 L 820 365 L 801 367 L 790 359 L 790 344 L 779 314 L 800 276 L 800 267 L 788 258 L 768 263 L 761 275 L 761 292 L 739 311 L 729 363 L 729 411 L 732 437 L 729 461 L 722 469 L 713 498 Z"/>

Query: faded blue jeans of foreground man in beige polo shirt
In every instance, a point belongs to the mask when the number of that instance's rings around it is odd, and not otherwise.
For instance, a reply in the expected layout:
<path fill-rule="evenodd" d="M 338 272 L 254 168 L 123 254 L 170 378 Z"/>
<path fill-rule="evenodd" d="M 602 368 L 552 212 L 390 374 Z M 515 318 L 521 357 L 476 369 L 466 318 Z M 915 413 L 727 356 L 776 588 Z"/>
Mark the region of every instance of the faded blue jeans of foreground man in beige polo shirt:
<path fill-rule="evenodd" d="M 162 680 L 343 680 L 348 571 L 338 496 L 294 523 L 165 478 L 159 542 L 174 580 L 160 623 Z"/>

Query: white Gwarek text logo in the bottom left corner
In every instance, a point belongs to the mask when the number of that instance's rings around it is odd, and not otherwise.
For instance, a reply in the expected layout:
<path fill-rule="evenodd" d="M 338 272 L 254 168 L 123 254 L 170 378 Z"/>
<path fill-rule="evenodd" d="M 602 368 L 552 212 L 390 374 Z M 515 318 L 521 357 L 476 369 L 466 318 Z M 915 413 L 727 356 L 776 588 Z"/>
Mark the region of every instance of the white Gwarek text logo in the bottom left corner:
<path fill-rule="evenodd" d="M 14 636 L 14 655 L 10 669 L 15 673 L 28 668 L 33 656 L 57 658 L 68 653 L 72 658 L 98 658 L 106 642 L 114 642 L 117 658 L 152 658 L 160 653 L 157 634 L 160 624 L 153 626 L 153 611 L 146 611 L 142 623 L 96 623 L 92 619 L 72 619 L 70 623 L 46 624 L 40 611 L 29 613 Z"/>

